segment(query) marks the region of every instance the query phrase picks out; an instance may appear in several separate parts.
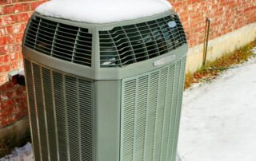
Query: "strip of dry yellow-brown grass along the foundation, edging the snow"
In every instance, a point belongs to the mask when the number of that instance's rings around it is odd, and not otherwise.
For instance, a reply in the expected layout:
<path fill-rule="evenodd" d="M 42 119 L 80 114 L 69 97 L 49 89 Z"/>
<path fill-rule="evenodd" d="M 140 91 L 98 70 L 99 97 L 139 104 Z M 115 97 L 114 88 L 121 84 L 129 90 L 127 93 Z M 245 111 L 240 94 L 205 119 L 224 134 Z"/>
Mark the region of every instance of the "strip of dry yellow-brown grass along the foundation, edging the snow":
<path fill-rule="evenodd" d="M 248 45 L 243 46 L 240 49 L 234 51 L 234 53 L 225 54 L 212 62 L 207 62 L 205 66 L 198 69 L 196 73 L 186 74 L 185 88 L 190 88 L 191 84 L 198 82 L 211 81 L 218 77 L 222 71 L 230 68 L 234 68 L 235 65 L 242 64 L 248 61 L 250 57 L 254 57 L 252 49 L 256 46 L 256 40 Z"/>

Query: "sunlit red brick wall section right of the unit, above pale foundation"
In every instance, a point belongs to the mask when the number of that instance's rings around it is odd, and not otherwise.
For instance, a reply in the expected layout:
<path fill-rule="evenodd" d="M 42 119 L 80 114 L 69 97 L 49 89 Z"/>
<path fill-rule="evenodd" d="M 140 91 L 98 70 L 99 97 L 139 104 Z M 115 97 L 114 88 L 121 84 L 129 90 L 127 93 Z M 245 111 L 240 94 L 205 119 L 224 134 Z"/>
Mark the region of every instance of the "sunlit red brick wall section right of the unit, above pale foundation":
<path fill-rule="evenodd" d="M 256 22 L 255 0 L 169 0 L 182 19 L 190 47 L 202 44 L 206 18 L 210 39 Z"/>

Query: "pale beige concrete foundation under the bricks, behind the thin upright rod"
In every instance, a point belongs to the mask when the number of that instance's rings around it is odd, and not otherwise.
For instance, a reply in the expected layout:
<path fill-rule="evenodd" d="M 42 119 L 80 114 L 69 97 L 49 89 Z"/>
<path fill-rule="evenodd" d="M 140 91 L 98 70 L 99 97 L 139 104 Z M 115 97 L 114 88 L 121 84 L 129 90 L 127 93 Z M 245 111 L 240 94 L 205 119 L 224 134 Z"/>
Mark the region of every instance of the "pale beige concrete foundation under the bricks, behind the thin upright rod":
<path fill-rule="evenodd" d="M 233 52 L 235 49 L 254 41 L 256 38 L 256 22 L 248 26 L 227 33 L 209 41 L 207 61 L 214 61 L 223 54 Z M 186 61 L 186 73 L 194 73 L 202 66 L 203 44 L 191 47 Z"/>

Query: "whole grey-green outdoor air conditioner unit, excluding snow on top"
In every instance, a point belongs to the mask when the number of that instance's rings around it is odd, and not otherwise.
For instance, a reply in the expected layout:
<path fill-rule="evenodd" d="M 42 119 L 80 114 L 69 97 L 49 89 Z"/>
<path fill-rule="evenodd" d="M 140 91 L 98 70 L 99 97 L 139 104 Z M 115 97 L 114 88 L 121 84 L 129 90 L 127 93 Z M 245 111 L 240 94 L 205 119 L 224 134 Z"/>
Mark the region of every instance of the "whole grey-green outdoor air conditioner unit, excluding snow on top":
<path fill-rule="evenodd" d="M 22 45 L 36 161 L 174 161 L 186 36 L 173 11 L 108 24 L 33 14 Z"/>

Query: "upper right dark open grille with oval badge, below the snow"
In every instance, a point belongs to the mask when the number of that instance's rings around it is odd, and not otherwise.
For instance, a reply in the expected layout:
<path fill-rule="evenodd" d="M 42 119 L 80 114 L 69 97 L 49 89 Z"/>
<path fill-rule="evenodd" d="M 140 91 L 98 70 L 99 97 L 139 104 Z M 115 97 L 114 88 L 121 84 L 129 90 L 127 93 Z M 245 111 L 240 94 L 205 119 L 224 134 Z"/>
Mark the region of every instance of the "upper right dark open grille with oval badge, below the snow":
<path fill-rule="evenodd" d="M 101 67 L 122 67 L 177 49 L 186 43 L 186 35 L 178 16 L 170 15 L 99 31 L 99 40 Z"/>

